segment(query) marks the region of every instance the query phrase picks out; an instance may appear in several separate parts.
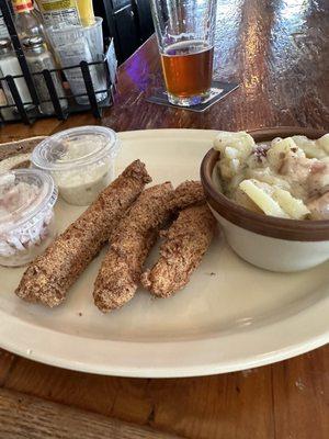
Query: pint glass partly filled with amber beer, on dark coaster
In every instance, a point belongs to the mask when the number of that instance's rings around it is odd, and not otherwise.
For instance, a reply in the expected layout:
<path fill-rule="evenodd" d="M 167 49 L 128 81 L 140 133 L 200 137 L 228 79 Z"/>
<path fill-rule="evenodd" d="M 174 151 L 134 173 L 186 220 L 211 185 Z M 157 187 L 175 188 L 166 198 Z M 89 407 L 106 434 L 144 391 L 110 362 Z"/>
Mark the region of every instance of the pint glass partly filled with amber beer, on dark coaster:
<path fill-rule="evenodd" d="M 169 102 L 192 106 L 211 93 L 217 0 L 151 0 Z"/>

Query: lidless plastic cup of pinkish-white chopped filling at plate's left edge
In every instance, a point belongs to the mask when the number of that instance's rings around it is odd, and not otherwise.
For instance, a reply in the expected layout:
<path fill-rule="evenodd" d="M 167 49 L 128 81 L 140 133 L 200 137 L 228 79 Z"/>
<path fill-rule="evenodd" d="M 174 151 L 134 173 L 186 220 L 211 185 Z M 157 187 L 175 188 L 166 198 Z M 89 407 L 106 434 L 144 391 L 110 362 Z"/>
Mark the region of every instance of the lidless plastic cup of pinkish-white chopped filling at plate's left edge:
<path fill-rule="evenodd" d="M 37 169 L 0 173 L 0 264 L 20 267 L 41 255 L 56 236 L 53 178 Z"/>

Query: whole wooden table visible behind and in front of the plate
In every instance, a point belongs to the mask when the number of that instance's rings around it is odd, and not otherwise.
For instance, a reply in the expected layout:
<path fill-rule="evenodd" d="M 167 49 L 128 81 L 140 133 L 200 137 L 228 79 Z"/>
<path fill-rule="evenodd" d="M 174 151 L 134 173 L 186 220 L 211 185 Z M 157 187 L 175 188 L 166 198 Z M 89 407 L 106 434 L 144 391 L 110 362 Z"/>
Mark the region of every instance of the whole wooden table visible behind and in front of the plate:
<path fill-rule="evenodd" d="M 99 123 L 116 131 L 329 131 L 328 0 L 219 0 L 218 13 L 215 74 L 240 88 L 208 112 L 145 102 L 162 81 L 151 38 L 121 67 L 116 103 L 102 121 L 86 113 L 64 123 L 9 125 L 1 142 Z M 0 438 L 177 436 L 328 438 L 329 348 L 245 372 L 179 380 L 98 376 L 0 351 Z"/>

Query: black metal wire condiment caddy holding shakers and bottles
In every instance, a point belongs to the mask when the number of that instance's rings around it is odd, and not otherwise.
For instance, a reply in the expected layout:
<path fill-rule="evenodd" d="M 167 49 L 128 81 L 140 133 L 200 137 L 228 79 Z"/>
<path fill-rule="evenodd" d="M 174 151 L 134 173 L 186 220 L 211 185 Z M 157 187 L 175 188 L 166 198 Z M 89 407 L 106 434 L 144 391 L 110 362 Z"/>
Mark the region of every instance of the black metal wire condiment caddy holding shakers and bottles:
<path fill-rule="evenodd" d="M 116 83 L 116 58 L 113 46 L 113 40 L 106 44 L 105 55 L 102 60 L 89 63 L 81 60 L 78 65 L 68 65 L 61 68 L 44 68 L 42 71 L 36 71 L 35 68 L 29 68 L 26 56 L 23 52 L 21 42 L 19 40 L 12 12 L 7 0 L 0 0 L 0 9 L 3 15 L 3 21 L 7 25 L 12 47 L 15 57 L 20 64 L 23 75 L 0 75 L 0 82 L 2 85 L 3 93 L 5 90 L 11 94 L 11 102 L 7 100 L 7 104 L 0 104 L 0 123 L 19 122 L 31 124 L 37 119 L 56 116 L 58 120 L 65 120 L 72 113 L 80 113 L 91 111 L 94 117 L 101 117 L 102 109 L 111 106 L 114 101 L 115 83 Z M 5 48 L 5 47 L 4 47 Z M 1 48 L 0 48 L 1 49 Z M 2 48 L 3 49 L 3 48 Z M 52 64 L 47 64 L 52 67 Z M 55 67 L 55 66 L 54 66 Z M 94 89 L 94 71 L 95 69 L 104 69 L 105 72 L 105 87 L 102 89 Z M 58 95 L 58 91 L 63 90 L 59 86 L 58 78 L 70 78 L 72 75 L 78 75 L 83 79 L 86 90 L 81 93 L 73 93 L 71 87 L 66 90 L 64 95 Z M 44 89 L 47 90 L 50 99 L 44 99 L 45 92 L 39 93 L 35 85 L 41 83 L 39 77 L 43 77 Z M 18 79 L 24 80 L 29 89 L 31 101 L 22 99 L 20 94 L 20 87 L 16 87 Z M 27 90 L 26 90 L 27 91 Z M 100 101 L 100 98 L 105 97 Z M 79 104 L 76 101 L 82 101 Z M 86 101 L 86 104 L 84 104 Z M 49 109 L 54 106 L 54 111 L 43 111 L 42 109 Z M 9 116 L 10 113 L 10 116 Z"/>

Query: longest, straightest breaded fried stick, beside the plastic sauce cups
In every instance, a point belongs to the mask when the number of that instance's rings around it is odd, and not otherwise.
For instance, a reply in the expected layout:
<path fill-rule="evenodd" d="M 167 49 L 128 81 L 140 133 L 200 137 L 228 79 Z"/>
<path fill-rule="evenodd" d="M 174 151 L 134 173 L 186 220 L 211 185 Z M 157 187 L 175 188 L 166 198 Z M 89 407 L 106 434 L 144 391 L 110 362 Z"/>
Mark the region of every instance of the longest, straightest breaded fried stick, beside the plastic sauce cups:
<path fill-rule="evenodd" d="M 59 305 L 69 288 L 98 255 L 127 207 L 150 181 L 136 160 L 26 269 L 15 293 L 29 302 Z"/>

